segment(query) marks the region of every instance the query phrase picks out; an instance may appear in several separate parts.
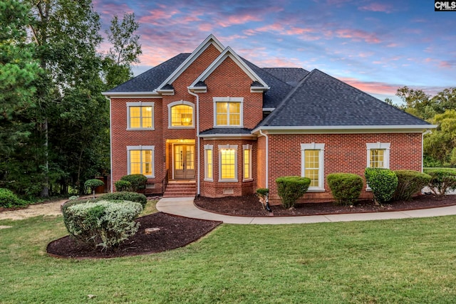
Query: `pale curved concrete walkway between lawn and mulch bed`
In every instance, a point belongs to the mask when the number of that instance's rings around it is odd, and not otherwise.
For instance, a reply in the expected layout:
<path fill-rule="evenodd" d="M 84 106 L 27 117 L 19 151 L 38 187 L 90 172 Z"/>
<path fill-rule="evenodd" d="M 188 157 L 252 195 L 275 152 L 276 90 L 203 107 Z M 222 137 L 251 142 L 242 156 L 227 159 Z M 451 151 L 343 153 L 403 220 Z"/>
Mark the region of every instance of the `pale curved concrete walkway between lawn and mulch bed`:
<path fill-rule="evenodd" d="M 193 219 L 209 219 L 223 221 L 226 224 L 306 224 L 326 221 L 373 221 L 378 219 L 408 219 L 431 216 L 455 215 L 456 206 L 409 211 L 390 211 L 358 214 L 328 214 L 310 216 L 227 216 L 198 209 L 193 204 L 193 197 L 175 197 L 160 199 L 157 210 L 167 214 L 190 217 Z"/>

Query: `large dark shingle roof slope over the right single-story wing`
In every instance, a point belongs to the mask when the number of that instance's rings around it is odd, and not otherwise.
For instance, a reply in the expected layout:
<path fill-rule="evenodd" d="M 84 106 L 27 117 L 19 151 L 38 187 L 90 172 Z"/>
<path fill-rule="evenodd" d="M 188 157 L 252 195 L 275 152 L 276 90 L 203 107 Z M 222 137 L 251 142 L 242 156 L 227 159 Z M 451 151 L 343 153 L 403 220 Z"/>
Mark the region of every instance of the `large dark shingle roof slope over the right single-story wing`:
<path fill-rule="evenodd" d="M 259 126 L 429 125 L 320 70 L 312 70 Z"/>

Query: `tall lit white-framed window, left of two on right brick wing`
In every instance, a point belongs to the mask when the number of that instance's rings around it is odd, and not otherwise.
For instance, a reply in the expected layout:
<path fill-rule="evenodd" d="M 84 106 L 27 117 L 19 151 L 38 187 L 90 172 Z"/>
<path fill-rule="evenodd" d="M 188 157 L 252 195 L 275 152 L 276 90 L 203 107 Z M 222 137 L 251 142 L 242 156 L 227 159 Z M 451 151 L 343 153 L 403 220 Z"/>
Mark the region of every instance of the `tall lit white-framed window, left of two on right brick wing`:
<path fill-rule="evenodd" d="M 323 159 L 325 144 L 301 144 L 301 176 L 309 177 L 309 191 L 324 191 Z"/>

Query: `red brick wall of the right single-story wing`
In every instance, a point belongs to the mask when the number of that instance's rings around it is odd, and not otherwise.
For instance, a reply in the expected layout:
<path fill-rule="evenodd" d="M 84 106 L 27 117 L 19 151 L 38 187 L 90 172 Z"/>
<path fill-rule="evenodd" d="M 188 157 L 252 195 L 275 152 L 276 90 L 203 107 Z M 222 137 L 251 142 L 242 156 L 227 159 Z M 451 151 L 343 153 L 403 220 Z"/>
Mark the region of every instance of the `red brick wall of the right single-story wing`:
<path fill-rule="evenodd" d="M 390 169 L 421 171 L 421 133 L 398 134 L 333 134 L 333 135 L 269 135 L 269 189 L 270 198 L 276 195 L 277 177 L 301 176 L 301 143 L 324 143 L 325 192 L 309 192 L 305 199 L 331 199 L 326 183 L 330 173 L 345 172 L 364 177 L 367 164 L 366 143 L 390 142 Z M 259 159 L 259 162 L 261 160 Z M 365 187 L 366 189 L 366 184 Z M 371 197 L 363 190 L 361 197 Z"/>

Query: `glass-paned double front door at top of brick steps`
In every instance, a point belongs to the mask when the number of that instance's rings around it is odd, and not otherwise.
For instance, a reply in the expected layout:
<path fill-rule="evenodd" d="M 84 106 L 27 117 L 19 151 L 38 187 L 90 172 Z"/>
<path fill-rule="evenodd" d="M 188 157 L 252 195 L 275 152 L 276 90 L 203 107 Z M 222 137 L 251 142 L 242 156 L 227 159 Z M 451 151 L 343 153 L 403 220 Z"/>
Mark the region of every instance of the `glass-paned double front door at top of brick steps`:
<path fill-rule="evenodd" d="M 174 145 L 174 179 L 195 179 L 195 145 Z"/>

